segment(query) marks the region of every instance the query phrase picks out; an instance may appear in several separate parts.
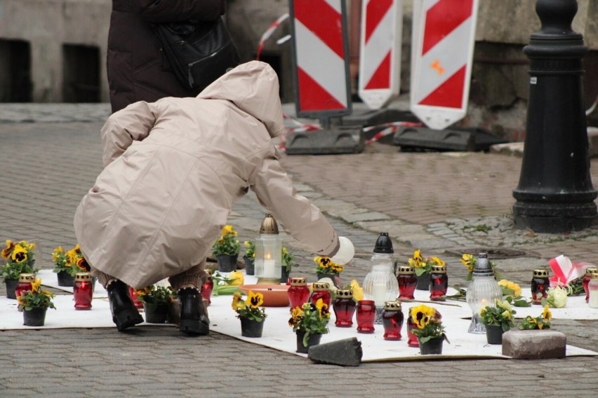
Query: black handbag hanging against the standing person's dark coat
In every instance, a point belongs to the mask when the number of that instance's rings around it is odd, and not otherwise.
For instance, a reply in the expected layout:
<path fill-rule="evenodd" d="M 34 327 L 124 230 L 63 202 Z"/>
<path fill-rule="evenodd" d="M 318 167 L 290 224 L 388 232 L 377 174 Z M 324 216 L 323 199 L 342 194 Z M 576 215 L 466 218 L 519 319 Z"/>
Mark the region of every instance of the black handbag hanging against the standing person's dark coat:
<path fill-rule="evenodd" d="M 175 76 L 186 88 L 203 90 L 240 62 L 222 18 L 154 23 L 152 27 Z"/>

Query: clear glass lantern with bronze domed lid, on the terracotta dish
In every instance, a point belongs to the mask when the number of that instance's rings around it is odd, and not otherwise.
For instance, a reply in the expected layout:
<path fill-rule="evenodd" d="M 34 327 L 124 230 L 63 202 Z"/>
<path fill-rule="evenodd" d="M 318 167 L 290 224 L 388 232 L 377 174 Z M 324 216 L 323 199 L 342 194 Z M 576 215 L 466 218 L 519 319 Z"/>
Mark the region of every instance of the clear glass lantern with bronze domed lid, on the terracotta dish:
<path fill-rule="evenodd" d="M 282 240 L 272 214 L 266 214 L 255 239 L 255 276 L 258 283 L 279 284 L 282 276 Z"/>

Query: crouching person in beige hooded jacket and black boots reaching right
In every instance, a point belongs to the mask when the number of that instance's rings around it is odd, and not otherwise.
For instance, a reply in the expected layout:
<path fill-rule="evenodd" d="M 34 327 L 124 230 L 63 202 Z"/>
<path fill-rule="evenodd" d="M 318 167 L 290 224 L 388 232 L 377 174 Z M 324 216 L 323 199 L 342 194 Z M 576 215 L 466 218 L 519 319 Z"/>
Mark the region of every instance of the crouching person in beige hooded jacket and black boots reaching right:
<path fill-rule="evenodd" d="M 208 334 L 199 288 L 204 263 L 232 205 L 251 188 L 293 238 L 347 263 L 347 238 L 279 163 L 284 132 L 274 70 L 252 61 L 197 97 L 135 102 L 102 128 L 104 170 L 81 200 L 74 230 L 91 272 L 108 291 L 123 331 L 142 322 L 127 293 L 168 277 L 180 299 L 180 331 Z"/>

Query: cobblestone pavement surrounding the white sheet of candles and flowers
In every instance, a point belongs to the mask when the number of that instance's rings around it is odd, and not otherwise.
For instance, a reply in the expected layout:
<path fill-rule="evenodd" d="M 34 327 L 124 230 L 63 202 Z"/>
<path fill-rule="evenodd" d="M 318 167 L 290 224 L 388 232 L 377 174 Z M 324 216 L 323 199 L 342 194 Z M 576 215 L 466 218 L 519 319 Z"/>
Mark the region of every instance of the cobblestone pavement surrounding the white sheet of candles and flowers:
<path fill-rule="evenodd" d="M 100 127 L 107 104 L 0 106 L 0 240 L 34 239 L 41 268 L 51 251 L 74 243 L 72 217 L 101 170 Z M 592 160 L 592 179 L 598 181 Z M 520 158 L 491 153 L 404 153 L 385 144 L 355 155 L 284 156 L 297 190 L 357 247 L 343 282 L 362 282 L 380 231 L 392 236 L 399 263 L 414 249 L 448 263 L 449 283 L 465 284 L 463 249 L 489 249 L 510 280 L 565 254 L 598 261 L 598 228 L 550 235 L 512 227 L 512 190 Z M 265 210 L 253 194 L 234 206 L 241 239 L 257 235 Z M 285 237 L 313 281 L 312 254 Z M 498 254 L 512 252 L 505 258 Z M 0 294 L 5 294 L 4 284 Z M 598 322 L 555 321 L 568 343 L 598 350 Z M 359 338 L 359 336 L 357 336 Z M 379 362 L 343 368 L 229 336 L 190 338 L 174 328 L 55 329 L 0 333 L 0 397 L 113 396 L 432 396 L 594 397 L 596 357 L 542 361 Z"/>

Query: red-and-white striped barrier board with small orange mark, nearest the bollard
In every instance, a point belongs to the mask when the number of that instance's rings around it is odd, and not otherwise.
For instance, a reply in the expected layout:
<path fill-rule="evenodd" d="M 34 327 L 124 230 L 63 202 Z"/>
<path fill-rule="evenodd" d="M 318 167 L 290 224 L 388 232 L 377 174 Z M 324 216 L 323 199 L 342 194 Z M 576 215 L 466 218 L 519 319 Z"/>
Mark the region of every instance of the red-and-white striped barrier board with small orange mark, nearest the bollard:
<path fill-rule="evenodd" d="M 411 111 L 444 129 L 467 111 L 478 0 L 413 4 Z"/>

